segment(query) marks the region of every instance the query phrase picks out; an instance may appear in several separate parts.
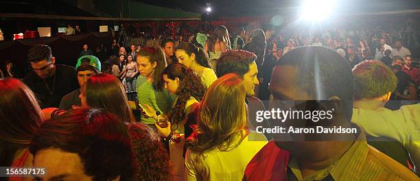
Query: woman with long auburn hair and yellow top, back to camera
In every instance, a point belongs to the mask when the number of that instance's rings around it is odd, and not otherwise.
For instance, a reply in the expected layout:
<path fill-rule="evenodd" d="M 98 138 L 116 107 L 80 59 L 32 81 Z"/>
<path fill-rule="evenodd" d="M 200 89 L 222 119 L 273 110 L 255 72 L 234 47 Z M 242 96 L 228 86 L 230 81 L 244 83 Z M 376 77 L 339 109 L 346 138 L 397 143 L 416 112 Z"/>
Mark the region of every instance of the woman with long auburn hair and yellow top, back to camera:
<path fill-rule="evenodd" d="M 263 134 L 248 130 L 245 97 L 236 74 L 226 74 L 211 84 L 194 133 L 186 141 L 187 180 L 241 180 L 248 162 L 266 145 Z"/>

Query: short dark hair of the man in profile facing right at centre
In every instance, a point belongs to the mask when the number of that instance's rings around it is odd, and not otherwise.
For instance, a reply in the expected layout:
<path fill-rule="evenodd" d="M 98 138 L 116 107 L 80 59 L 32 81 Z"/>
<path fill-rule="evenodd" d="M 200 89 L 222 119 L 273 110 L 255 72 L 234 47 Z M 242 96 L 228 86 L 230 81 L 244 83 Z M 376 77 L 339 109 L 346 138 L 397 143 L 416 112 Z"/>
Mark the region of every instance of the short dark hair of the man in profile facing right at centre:
<path fill-rule="evenodd" d="M 222 77 L 226 73 L 236 73 L 240 77 L 249 71 L 250 64 L 255 62 L 257 56 L 254 53 L 244 50 L 231 49 L 222 53 L 217 66 L 216 75 Z"/>

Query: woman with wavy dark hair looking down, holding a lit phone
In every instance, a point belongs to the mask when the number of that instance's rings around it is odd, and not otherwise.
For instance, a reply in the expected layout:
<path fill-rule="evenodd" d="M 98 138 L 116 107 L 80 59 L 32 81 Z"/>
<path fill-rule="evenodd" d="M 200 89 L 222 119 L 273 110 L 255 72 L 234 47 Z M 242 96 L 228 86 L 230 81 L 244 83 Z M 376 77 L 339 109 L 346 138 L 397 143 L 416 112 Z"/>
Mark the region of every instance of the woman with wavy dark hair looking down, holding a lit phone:
<path fill-rule="evenodd" d="M 198 106 L 198 102 L 205 95 L 206 88 L 197 73 L 180 63 L 172 63 L 166 67 L 163 71 L 163 80 L 165 88 L 178 97 L 172 109 L 165 115 L 169 122 L 162 124 L 158 122 L 156 128 L 169 144 L 170 158 L 175 165 L 176 178 L 183 178 L 185 136 L 189 136 L 192 132 L 189 125 L 194 124 L 187 121 L 187 116 Z M 150 106 L 147 107 L 148 112 L 155 112 Z M 156 114 L 153 114 L 152 117 L 158 119 Z"/>

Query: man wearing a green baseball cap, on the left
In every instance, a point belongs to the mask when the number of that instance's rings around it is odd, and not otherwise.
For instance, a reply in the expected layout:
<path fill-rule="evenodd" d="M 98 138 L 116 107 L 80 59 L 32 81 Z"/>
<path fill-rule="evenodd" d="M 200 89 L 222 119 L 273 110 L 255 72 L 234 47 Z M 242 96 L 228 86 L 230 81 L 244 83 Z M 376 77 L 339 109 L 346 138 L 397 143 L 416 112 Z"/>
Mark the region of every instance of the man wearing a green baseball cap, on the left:
<path fill-rule="evenodd" d="M 80 88 L 86 84 L 89 77 L 101 73 L 101 62 L 95 56 L 81 56 L 75 66 Z M 62 97 L 59 108 L 69 110 L 73 106 L 80 106 L 80 88 Z"/>

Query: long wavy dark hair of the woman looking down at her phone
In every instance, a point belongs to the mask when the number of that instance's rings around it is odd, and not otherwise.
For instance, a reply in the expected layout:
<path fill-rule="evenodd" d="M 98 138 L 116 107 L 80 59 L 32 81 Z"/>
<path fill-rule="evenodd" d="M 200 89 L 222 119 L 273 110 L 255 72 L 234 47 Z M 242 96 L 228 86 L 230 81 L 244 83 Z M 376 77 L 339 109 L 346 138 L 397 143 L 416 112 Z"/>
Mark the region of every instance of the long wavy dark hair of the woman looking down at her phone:
<path fill-rule="evenodd" d="M 201 101 L 205 95 L 206 87 L 202 84 L 201 78 L 196 72 L 187 69 L 187 67 L 180 63 L 170 64 L 163 71 L 163 75 L 167 75 L 171 80 L 175 80 L 176 77 L 180 80 L 180 85 L 176 90 L 178 98 L 176 99 L 174 108 L 168 113 L 171 123 L 178 124 L 185 119 L 185 105 L 189 98 L 192 96 L 198 101 Z"/>

